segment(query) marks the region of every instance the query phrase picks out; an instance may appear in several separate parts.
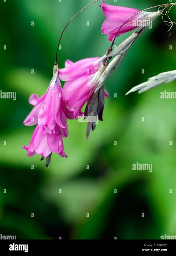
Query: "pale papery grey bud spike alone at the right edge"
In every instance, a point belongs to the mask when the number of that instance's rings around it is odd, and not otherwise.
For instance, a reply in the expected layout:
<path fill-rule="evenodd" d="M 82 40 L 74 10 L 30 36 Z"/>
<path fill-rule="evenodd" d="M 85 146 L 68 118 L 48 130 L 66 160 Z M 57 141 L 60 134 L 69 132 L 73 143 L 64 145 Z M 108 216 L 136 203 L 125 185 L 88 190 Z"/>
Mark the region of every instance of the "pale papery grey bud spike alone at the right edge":
<path fill-rule="evenodd" d="M 138 93 L 143 93 L 144 91 L 148 91 L 160 84 L 168 84 L 174 80 L 176 80 L 176 70 L 163 72 L 159 75 L 149 78 L 147 82 L 143 82 L 142 84 L 131 88 L 131 90 L 126 93 L 126 95 L 138 90 Z"/>

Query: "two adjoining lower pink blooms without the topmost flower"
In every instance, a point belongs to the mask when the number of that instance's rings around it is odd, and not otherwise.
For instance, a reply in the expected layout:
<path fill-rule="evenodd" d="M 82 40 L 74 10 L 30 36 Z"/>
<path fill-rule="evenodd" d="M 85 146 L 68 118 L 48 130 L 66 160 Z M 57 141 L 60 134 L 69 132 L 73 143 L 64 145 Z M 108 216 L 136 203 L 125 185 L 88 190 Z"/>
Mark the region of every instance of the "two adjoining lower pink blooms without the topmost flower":
<path fill-rule="evenodd" d="M 29 103 L 34 107 L 24 120 L 26 126 L 37 124 L 27 150 L 27 156 L 36 153 L 47 158 L 52 152 L 66 157 L 63 138 L 68 136 L 67 119 L 77 119 L 84 114 L 81 108 L 94 93 L 93 83 L 89 83 L 100 69 L 98 57 L 87 58 L 75 63 L 66 60 L 65 68 L 54 65 L 53 78 L 48 90 L 40 98 L 32 94 Z M 66 81 L 62 89 L 61 82 Z M 105 91 L 105 97 L 108 96 Z"/>

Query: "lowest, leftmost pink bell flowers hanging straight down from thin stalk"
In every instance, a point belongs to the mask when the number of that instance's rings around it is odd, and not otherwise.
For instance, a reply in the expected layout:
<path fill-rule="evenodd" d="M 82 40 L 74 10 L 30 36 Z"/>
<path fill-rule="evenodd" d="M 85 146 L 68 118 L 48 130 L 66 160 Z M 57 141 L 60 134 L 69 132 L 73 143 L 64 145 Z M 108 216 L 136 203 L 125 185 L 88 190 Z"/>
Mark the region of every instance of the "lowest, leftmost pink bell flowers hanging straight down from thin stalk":
<path fill-rule="evenodd" d="M 34 106 L 23 122 L 26 126 L 38 124 L 32 135 L 29 146 L 23 146 L 27 150 L 27 156 L 35 153 L 47 157 L 51 152 L 63 157 L 63 137 L 68 136 L 67 119 L 74 119 L 74 111 L 66 107 L 62 98 L 61 83 L 58 78 L 58 65 L 54 66 L 53 78 L 48 90 L 40 98 L 32 94 L 29 103 Z"/>

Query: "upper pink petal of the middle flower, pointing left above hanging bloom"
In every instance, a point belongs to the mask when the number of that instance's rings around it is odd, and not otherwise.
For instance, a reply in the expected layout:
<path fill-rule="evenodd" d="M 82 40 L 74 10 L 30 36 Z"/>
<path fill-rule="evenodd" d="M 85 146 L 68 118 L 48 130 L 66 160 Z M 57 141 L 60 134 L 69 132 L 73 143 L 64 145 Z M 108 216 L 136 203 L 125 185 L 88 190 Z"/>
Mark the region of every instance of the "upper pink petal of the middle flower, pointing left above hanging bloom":
<path fill-rule="evenodd" d="M 81 59 L 66 68 L 59 69 L 59 78 L 62 81 L 71 81 L 91 74 L 92 65 L 99 57 Z"/>

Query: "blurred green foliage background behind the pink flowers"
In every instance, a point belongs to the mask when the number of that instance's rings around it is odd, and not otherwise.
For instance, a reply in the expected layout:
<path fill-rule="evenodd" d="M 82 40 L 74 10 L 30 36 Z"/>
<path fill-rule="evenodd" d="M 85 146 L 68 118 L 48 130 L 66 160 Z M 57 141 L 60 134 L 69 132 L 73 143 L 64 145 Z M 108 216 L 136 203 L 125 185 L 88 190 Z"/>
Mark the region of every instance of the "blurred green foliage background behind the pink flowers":
<path fill-rule="evenodd" d="M 53 154 L 46 168 L 40 156 L 27 157 L 22 149 L 24 144 L 29 145 L 34 129 L 23 125 L 32 109 L 28 98 L 46 91 L 62 29 L 90 2 L 1 1 L 1 90 L 17 93 L 16 101 L 0 99 L 1 234 L 16 235 L 17 239 L 160 239 L 164 234 L 175 235 L 176 105 L 175 99 L 161 99 L 160 92 L 175 91 L 176 84 L 125 96 L 148 77 L 175 69 L 175 25 L 168 37 L 169 27 L 162 17 L 131 47 L 106 81 L 110 96 L 105 100 L 104 121 L 98 123 L 88 141 L 86 124 L 69 120 L 69 137 L 63 140 L 68 159 Z M 105 18 L 98 3 L 66 29 L 58 53 L 60 68 L 65 59 L 102 56 L 110 46 L 106 35 L 101 34 Z M 142 10 L 163 1 L 106 3 Z M 175 8 L 170 12 L 173 20 Z M 115 45 L 130 33 L 118 37 Z M 141 117 L 145 117 L 144 122 Z M 153 172 L 132 171 L 136 162 L 153 163 Z M 3 189 L 7 189 L 6 194 Z"/>

